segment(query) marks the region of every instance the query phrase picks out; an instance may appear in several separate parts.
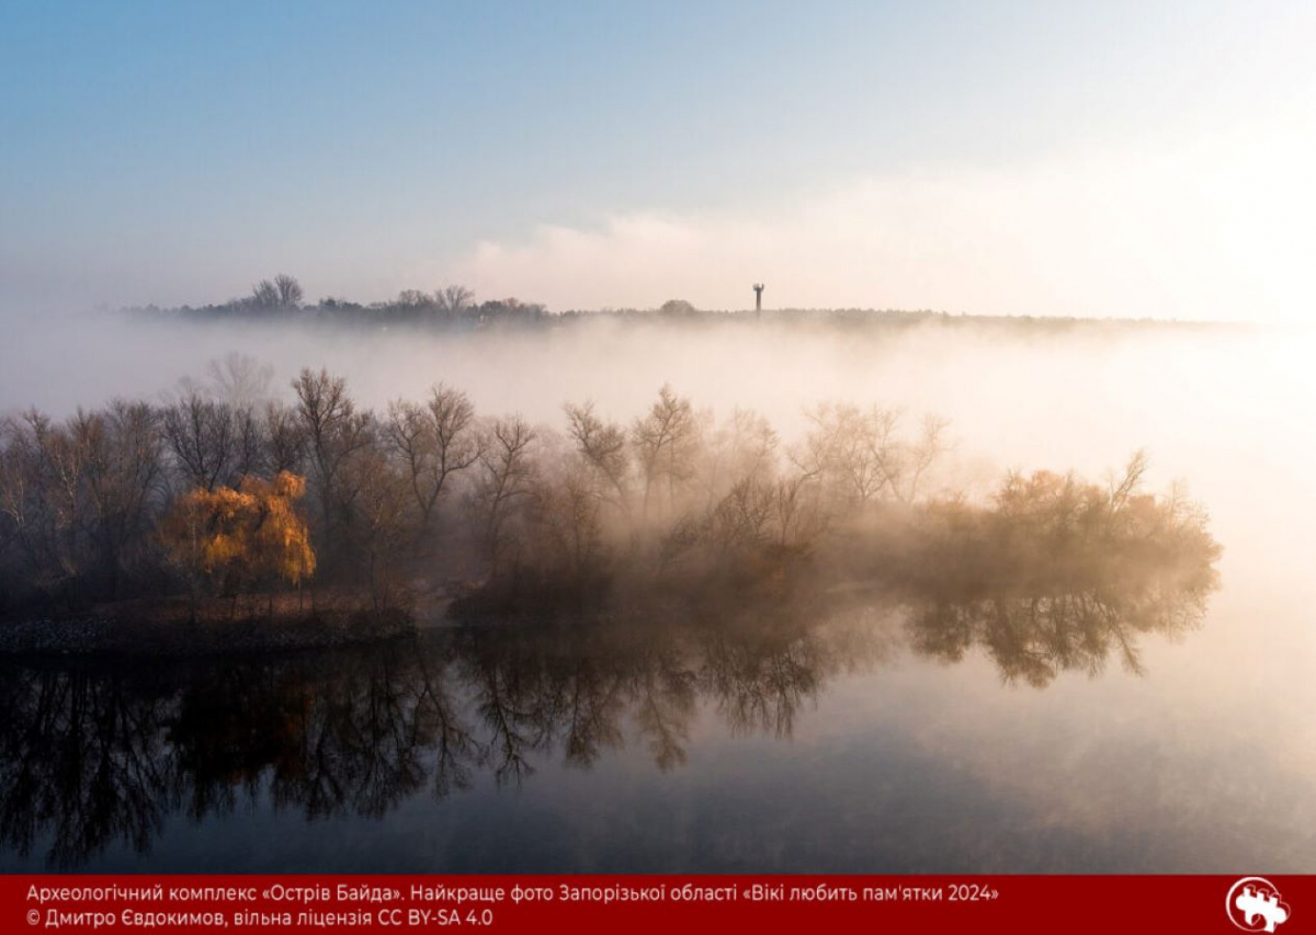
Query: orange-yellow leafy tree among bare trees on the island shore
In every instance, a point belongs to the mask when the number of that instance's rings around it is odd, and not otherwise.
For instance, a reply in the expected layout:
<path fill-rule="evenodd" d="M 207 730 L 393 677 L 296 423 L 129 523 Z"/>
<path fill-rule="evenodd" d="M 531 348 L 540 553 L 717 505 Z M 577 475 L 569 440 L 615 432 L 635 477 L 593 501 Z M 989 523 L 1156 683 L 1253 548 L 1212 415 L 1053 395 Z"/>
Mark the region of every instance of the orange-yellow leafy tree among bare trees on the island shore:
<path fill-rule="evenodd" d="M 316 569 L 311 533 L 296 510 L 305 491 L 304 477 L 280 471 L 274 480 L 245 477 L 236 491 L 196 488 L 174 501 L 161 535 L 188 580 L 193 619 L 205 583 L 232 597 L 234 610 L 240 594 L 262 585 L 286 581 L 300 593 Z"/>

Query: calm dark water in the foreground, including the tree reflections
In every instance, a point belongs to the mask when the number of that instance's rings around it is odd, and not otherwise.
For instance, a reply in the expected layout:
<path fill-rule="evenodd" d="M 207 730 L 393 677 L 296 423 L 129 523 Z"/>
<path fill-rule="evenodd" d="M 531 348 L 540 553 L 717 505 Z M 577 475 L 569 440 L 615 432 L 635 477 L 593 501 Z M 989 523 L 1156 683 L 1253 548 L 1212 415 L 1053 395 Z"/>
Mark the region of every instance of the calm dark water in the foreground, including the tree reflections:
<path fill-rule="evenodd" d="M 1078 622 L 1055 642 L 1058 611 L 1020 610 L 1008 639 L 867 605 L 146 672 L 11 665 L 3 863 L 1312 868 L 1309 751 L 1273 743 L 1266 707 L 1234 709 L 1200 665 L 1177 673 L 1208 634 Z"/>

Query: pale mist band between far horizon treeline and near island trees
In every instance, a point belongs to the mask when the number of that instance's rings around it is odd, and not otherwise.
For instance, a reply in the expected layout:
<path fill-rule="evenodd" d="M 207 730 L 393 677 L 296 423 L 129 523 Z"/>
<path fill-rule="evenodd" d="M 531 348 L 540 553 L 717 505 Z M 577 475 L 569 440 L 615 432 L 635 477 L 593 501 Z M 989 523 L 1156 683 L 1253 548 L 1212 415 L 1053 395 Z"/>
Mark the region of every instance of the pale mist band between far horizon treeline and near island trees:
<path fill-rule="evenodd" d="M 465 392 L 482 420 L 520 416 L 550 448 L 570 450 L 563 404 L 592 404 L 599 420 L 629 431 L 667 385 L 707 425 L 726 426 L 737 413 L 762 418 L 783 464 L 817 429 L 820 405 L 876 408 L 904 444 L 934 418 L 937 466 L 923 493 L 974 502 L 999 493 L 1011 468 L 1075 471 L 1103 485 L 1145 450 L 1149 489 L 1187 481 L 1209 509 L 1227 577 L 1230 551 L 1262 537 L 1271 560 L 1248 572 L 1286 573 L 1305 535 L 1294 505 L 1309 502 L 1302 464 L 1316 444 L 1295 405 L 1307 345 L 1292 331 L 600 317 L 430 333 L 120 314 L 22 327 L 22 341 L 4 350 L 0 409 L 11 417 L 37 406 L 59 421 L 111 398 L 162 406 L 190 388 L 216 395 L 222 387 L 207 375 L 242 362 L 262 373 L 261 393 L 284 406 L 301 368 L 341 376 L 380 425 L 391 402 L 422 402 L 442 383 Z"/>

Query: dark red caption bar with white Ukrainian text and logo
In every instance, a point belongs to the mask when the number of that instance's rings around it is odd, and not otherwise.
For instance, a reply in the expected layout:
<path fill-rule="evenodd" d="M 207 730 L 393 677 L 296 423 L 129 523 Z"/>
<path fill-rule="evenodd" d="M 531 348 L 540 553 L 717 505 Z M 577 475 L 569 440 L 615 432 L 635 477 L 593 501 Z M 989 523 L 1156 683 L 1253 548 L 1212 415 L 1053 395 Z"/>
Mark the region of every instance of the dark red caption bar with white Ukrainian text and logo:
<path fill-rule="evenodd" d="M 7 876 L 0 931 L 1294 932 L 1294 876 Z"/>

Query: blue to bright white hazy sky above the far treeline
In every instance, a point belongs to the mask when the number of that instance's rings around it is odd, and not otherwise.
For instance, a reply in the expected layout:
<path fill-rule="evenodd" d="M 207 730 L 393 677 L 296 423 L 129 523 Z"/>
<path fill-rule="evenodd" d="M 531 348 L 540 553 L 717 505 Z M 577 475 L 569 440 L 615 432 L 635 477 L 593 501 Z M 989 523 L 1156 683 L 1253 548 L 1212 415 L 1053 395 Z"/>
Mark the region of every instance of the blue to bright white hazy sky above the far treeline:
<path fill-rule="evenodd" d="M 0 309 L 1302 320 L 1312 3 L 0 0 Z"/>

